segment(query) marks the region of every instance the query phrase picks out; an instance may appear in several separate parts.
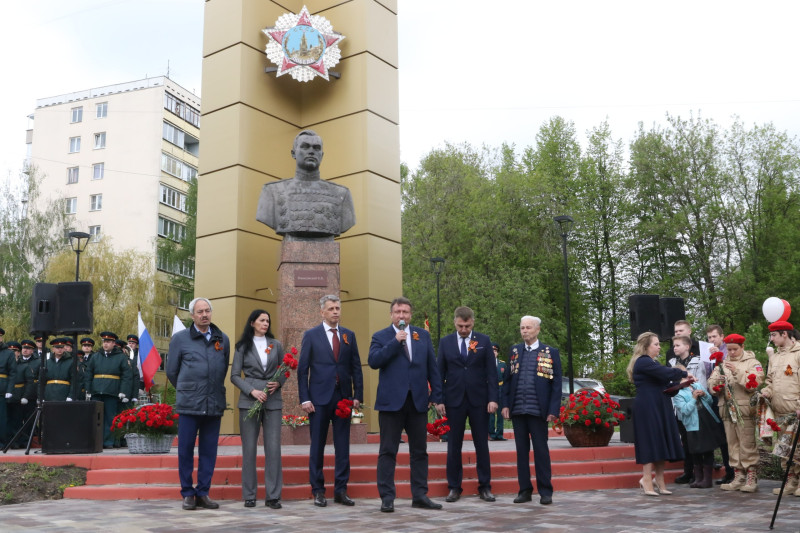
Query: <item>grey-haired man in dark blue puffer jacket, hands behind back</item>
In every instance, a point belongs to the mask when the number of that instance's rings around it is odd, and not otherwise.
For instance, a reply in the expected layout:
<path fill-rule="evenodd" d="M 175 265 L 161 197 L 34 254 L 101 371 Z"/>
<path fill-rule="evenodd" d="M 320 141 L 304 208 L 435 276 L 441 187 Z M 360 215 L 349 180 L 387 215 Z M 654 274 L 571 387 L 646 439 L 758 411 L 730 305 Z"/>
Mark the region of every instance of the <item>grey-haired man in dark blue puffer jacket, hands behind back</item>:
<path fill-rule="evenodd" d="M 217 462 L 217 443 L 225 411 L 225 375 L 231 344 L 228 336 L 211 322 L 211 302 L 189 302 L 194 324 L 176 333 L 169 343 L 167 378 L 175 387 L 178 420 L 178 477 L 183 508 L 217 509 L 208 497 Z M 199 435 L 199 439 L 198 439 Z M 197 486 L 192 484 L 194 443 L 197 443 Z"/>

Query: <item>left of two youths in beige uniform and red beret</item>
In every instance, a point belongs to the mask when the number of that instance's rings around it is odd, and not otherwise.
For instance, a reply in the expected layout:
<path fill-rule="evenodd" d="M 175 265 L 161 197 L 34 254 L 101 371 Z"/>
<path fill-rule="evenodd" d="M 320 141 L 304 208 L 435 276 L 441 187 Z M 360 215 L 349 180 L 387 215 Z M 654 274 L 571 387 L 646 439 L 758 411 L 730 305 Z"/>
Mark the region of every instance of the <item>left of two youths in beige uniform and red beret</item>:
<path fill-rule="evenodd" d="M 728 358 L 724 362 L 722 357 L 715 358 L 716 366 L 708 378 L 708 386 L 719 398 L 725 436 L 728 439 L 728 453 L 734 469 L 733 481 L 723 484 L 721 488 L 755 492 L 758 490 L 756 466 L 759 457 L 755 434 L 756 408 L 750 407 L 750 396 L 755 394 L 764 381 L 764 369 L 753 352 L 744 350 L 744 341 L 744 337 L 735 333 L 725 337 Z M 726 382 L 731 387 L 730 393 L 726 393 Z M 728 402 L 736 402 L 739 406 L 741 423 L 731 419 Z"/>

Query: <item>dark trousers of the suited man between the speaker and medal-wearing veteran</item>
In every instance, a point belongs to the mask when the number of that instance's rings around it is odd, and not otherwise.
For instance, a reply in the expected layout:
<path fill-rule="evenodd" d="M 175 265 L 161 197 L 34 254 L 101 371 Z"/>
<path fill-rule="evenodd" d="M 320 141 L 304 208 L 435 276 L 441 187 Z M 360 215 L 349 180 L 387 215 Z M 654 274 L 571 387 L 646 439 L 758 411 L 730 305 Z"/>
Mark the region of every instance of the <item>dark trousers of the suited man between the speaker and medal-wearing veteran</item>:
<path fill-rule="evenodd" d="M 464 443 L 464 430 L 467 416 L 472 430 L 472 443 L 478 469 L 478 490 L 491 490 L 491 465 L 489 461 L 489 413 L 486 406 L 475 407 L 464 398 L 458 407 L 447 406 L 447 486 L 460 490 L 464 468 L 461 463 L 461 447 Z"/>

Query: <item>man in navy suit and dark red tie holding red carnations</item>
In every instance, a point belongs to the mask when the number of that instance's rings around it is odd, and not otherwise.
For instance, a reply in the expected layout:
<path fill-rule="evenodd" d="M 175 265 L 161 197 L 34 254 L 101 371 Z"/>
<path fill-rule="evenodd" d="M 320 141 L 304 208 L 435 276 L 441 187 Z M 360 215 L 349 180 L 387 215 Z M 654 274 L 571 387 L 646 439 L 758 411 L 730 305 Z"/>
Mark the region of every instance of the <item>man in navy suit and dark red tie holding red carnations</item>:
<path fill-rule="evenodd" d="M 355 505 L 347 495 L 350 479 L 350 418 L 336 416 L 336 405 L 352 399 L 358 409 L 364 399 L 364 378 L 358 355 L 356 334 L 339 324 L 342 305 L 334 294 L 319 301 L 322 324 L 303 334 L 300 362 L 297 367 L 297 390 L 303 411 L 311 425 L 311 450 L 308 475 L 314 505 L 325 507 L 325 478 L 322 463 L 328 426 L 333 424 L 333 447 L 336 452 L 333 501 Z"/>

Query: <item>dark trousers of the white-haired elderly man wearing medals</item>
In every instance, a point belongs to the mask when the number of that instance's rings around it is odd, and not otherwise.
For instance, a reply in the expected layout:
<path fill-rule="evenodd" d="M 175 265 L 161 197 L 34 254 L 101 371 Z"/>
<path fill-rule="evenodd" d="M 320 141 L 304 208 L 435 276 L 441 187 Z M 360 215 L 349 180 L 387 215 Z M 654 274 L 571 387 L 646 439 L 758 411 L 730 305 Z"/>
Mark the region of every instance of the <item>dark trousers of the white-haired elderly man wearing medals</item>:
<path fill-rule="evenodd" d="M 517 415 L 511 417 L 514 426 L 514 443 L 517 446 L 517 478 L 519 490 L 533 490 L 531 464 L 528 460 L 533 441 L 533 462 L 536 468 L 536 490 L 539 496 L 553 496 L 550 481 L 550 451 L 547 447 L 547 420 L 541 416 Z"/>

